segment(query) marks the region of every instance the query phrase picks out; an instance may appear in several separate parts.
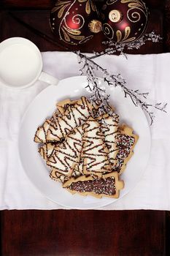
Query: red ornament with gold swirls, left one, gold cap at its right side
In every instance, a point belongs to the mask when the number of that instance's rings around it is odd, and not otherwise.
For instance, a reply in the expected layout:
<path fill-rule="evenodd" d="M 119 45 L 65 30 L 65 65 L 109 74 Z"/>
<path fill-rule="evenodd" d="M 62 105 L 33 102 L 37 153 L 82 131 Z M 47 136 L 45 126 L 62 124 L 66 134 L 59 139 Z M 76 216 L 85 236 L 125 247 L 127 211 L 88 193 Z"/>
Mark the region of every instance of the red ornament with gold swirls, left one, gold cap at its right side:
<path fill-rule="evenodd" d="M 78 45 L 101 31 L 101 22 L 96 18 L 96 5 L 92 0 L 58 0 L 50 13 L 50 26 L 63 42 Z"/>

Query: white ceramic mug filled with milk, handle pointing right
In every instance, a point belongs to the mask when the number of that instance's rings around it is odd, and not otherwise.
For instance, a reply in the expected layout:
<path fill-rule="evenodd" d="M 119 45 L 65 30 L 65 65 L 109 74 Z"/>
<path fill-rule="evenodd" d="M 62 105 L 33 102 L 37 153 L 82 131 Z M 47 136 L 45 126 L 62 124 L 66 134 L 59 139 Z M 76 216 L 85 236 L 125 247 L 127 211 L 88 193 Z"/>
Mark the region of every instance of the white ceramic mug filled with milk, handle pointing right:
<path fill-rule="evenodd" d="M 57 85 L 58 79 L 43 72 L 42 67 L 42 55 L 28 39 L 11 37 L 0 43 L 0 84 L 20 89 L 43 80 Z"/>

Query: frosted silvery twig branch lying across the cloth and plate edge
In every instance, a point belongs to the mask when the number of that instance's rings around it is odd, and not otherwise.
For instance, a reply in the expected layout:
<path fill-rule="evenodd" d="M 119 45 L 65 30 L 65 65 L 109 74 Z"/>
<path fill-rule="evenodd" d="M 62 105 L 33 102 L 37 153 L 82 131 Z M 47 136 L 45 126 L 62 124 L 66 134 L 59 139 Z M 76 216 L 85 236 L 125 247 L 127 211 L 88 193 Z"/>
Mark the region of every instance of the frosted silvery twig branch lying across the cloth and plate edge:
<path fill-rule="evenodd" d="M 139 39 L 136 42 L 128 43 L 128 44 L 120 44 L 120 47 L 117 46 L 117 43 L 114 42 L 104 42 L 105 44 L 114 45 L 116 47 L 116 50 L 120 51 L 120 53 L 123 53 L 123 50 L 125 48 L 134 49 L 139 48 L 148 40 L 152 40 L 152 42 L 158 42 L 161 39 L 159 35 L 156 35 L 154 32 L 150 34 L 145 34 L 141 39 Z M 115 52 L 115 50 L 113 50 Z M 102 74 L 102 77 L 104 78 L 104 81 L 106 82 L 107 86 L 120 86 L 125 94 L 125 98 L 129 97 L 131 101 L 134 103 L 135 106 L 140 106 L 142 110 L 147 113 L 147 115 L 150 117 L 150 124 L 152 124 L 154 119 L 154 113 L 152 112 L 152 109 L 155 108 L 156 110 L 161 110 L 166 113 L 166 105 L 163 103 L 156 103 L 155 105 L 148 104 L 146 102 L 149 93 L 148 92 L 141 92 L 139 89 L 132 90 L 129 89 L 127 86 L 127 83 L 124 78 L 120 74 L 114 75 L 110 74 L 107 69 L 104 69 L 99 64 L 96 64 L 96 62 L 93 60 L 97 58 L 98 56 L 104 55 L 104 54 L 111 54 L 113 53 L 111 48 L 107 48 L 103 53 L 95 53 L 95 56 L 88 57 L 85 54 L 82 54 L 80 52 L 76 52 L 78 56 L 78 62 L 80 64 L 83 64 L 80 72 L 81 74 L 87 75 L 88 80 L 88 86 L 86 87 L 90 93 L 93 93 L 90 97 L 91 102 L 96 102 L 100 104 L 100 108 L 98 110 L 98 114 L 101 113 L 110 113 L 110 115 L 113 114 L 112 109 L 109 107 L 109 95 L 106 93 L 105 88 L 101 88 L 98 85 L 98 78 L 96 78 L 95 72 L 99 71 Z"/>

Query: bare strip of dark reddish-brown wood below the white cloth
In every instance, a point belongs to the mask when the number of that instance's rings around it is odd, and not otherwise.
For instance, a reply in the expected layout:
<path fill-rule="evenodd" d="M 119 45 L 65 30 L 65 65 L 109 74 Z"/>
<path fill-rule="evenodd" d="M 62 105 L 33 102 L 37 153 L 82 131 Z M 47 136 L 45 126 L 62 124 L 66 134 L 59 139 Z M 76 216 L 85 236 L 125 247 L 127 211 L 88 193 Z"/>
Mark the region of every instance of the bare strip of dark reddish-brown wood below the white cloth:
<path fill-rule="evenodd" d="M 163 256 L 163 211 L 3 211 L 3 256 Z"/>

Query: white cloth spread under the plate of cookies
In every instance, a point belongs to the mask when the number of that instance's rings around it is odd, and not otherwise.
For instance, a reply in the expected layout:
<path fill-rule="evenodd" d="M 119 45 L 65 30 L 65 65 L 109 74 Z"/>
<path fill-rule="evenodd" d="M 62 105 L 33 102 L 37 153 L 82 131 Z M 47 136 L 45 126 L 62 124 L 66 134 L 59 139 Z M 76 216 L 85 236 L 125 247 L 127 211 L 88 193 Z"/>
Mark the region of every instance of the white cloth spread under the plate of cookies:
<path fill-rule="evenodd" d="M 74 53 L 42 53 L 44 71 L 62 79 L 80 75 Z M 101 56 L 98 64 L 120 73 L 131 89 L 150 92 L 150 102 L 168 102 L 167 113 L 155 112 L 150 161 L 136 187 L 102 210 L 170 210 L 170 54 Z M 27 89 L 0 86 L 0 209 L 64 208 L 44 197 L 28 180 L 18 155 L 20 121 L 34 97 L 48 85 L 37 81 Z M 69 85 L 68 85 L 69 86 Z M 137 171 L 137 170 L 136 170 Z"/>

